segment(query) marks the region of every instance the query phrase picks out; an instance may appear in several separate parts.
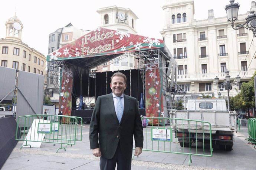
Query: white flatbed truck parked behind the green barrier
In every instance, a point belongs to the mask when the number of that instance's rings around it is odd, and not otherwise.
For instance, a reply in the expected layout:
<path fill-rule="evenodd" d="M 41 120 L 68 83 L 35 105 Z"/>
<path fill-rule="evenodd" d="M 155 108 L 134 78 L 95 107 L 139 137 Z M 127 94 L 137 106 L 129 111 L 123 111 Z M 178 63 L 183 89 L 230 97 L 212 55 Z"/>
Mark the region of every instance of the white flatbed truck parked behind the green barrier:
<path fill-rule="evenodd" d="M 234 132 L 237 132 L 236 112 L 227 110 L 225 99 L 189 99 L 187 110 L 171 110 L 169 114 L 170 118 L 210 122 L 212 144 L 223 150 L 233 149 Z M 171 121 L 181 147 L 191 147 L 195 142 L 210 142 L 209 124 Z"/>

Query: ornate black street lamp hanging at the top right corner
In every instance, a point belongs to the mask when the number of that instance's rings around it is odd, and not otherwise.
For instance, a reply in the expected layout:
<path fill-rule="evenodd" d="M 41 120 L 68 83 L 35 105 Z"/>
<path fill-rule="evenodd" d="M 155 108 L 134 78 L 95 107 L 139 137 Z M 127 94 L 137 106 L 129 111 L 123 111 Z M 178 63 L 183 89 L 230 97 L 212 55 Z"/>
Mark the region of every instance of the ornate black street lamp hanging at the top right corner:
<path fill-rule="evenodd" d="M 243 24 L 236 24 L 236 28 L 234 28 L 234 21 L 237 20 L 238 16 L 238 9 L 240 4 L 234 3 L 234 0 L 229 1 L 230 4 L 226 5 L 225 10 L 227 12 L 227 21 L 230 21 L 231 26 L 234 30 L 239 30 L 240 28 L 244 27 L 247 30 L 251 30 L 253 32 L 253 36 L 256 37 L 256 14 L 255 11 L 250 11 L 249 16 L 247 16 L 246 22 Z"/>

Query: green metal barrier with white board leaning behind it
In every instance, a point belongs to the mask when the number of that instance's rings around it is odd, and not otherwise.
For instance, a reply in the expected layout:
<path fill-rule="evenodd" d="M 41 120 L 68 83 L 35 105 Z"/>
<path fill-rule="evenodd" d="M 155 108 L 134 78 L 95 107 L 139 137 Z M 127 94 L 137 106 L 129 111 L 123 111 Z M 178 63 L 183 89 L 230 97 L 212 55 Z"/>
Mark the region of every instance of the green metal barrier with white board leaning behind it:
<path fill-rule="evenodd" d="M 78 120 L 81 122 L 81 131 L 79 131 Z M 76 144 L 76 141 L 82 141 L 82 123 L 82 118 L 75 116 L 20 116 L 17 119 L 16 140 L 24 141 L 22 147 L 29 146 L 31 148 L 31 145 L 40 147 L 40 142 L 44 142 L 60 144 L 59 149 L 66 151 L 68 145 L 72 146 Z M 21 138 L 17 139 L 17 136 L 21 136 Z M 63 144 L 66 147 L 63 147 Z"/>

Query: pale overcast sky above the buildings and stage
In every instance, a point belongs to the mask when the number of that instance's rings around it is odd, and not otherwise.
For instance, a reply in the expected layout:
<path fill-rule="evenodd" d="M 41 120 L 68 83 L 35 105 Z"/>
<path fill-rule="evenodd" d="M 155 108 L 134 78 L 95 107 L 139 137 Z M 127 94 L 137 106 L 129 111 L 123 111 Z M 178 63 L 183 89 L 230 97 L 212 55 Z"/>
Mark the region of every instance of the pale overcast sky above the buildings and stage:
<path fill-rule="evenodd" d="M 250 10 L 251 0 L 236 0 L 241 4 L 239 14 Z M 5 22 L 15 13 L 24 26 L 22 41 L 35 48 L 45 56 L 48 49 L 48 36 L 58 28 L 72 23 L 83 30 L 93 30 L 99 26 L 101 7 L 118 6 L 130 8 L 137 16 L 136 30 L 138 34 L 161 38 L 160 31 L 164 25 L 162 7 L 165 0 L 9 0 L 1 2 L 0 10 L 0 38 L 6 34 Z M 207 19 L 207 11 L 214 10 L 215 17 L 226 16 L 224 7 L 229 0 L 194 0 L 196 20 Z"/>

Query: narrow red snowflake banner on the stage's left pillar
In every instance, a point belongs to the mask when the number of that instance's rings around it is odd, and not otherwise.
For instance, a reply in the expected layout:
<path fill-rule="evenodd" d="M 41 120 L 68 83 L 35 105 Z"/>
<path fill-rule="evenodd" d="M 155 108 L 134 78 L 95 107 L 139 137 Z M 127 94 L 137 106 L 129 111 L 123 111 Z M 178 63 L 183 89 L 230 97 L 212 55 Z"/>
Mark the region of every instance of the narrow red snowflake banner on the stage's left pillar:
<path fill-rule="evenodd" d="M 72 85 L 73 85 L 72 69 L 63 68 L 60 82 L 61 84 L 60 84 L 59 111 L 65 116 L 71 116 Z M 63 123 L 69 123 L 69 120 L 63 119 Z"/>

